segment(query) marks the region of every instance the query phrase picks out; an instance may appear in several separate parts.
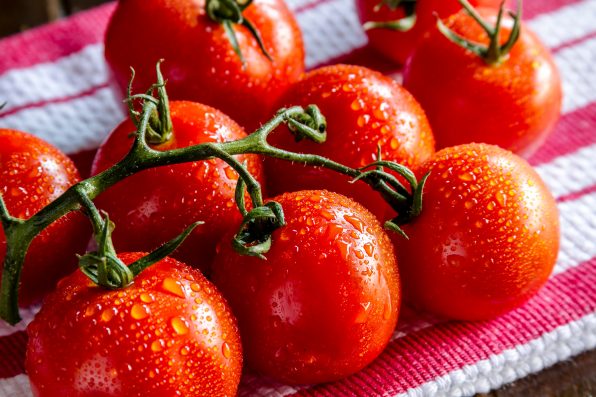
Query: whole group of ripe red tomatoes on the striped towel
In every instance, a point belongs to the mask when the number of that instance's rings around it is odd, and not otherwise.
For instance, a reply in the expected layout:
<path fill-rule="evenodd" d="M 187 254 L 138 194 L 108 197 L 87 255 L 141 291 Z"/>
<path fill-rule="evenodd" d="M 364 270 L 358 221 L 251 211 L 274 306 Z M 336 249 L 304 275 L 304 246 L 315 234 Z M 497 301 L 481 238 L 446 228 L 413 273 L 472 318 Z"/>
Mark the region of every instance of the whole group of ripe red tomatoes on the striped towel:
<path fill-rule="evenodd" d="M 324 144 L 297 141 L 287 127 L 271 144 L 354 168 L 394 161 L 426 177 L 422 212 L 402 225 L 407 238 L 383 230 L 379 219 L 396 214 L 366 184 L 242 154 L 283 207 L 285 225 L 273 232 L 266 260 L 241 256 L 230 243 L 242 222 L 230 165 L 211 159 L 140 172 L 96 202 L 116 224 L 122 261 L 195 220 L 205 224 L 176 259 L 127 288 L 103 289 L 80 271 L 58 282 L 28 329 L 37 396 L 232 396 L 243 360 L 282 382 L 329 382 L 381 353 L 402 294 L 419 310 L 482 320 L 518 307 L 546 282 L 559 245 L 556 204 L 513 152 L 534 151 L 558 118 L 560 81 L 548 51 L 519 15 L 498 8 L 358 3 L 363 22 L 379 22 L 367 24 L 372 45 L 405 62 L 403 86 L 360 66 L 304 73 L 300 31 L 283 0 L 123 0 L 106 58 L 123 87 L 133 66 L 142 89 L 165 58 L 176 100 L 172 136 L 154 143 L 157 150 L 242 139 L 281 107 L 317 105 L 327 119 Z M 433 13 L 445 19 L 437 25 Z M 387 21 L 398 30 L 377 28 Z M 111 133 L 93 174 L 126 155 L 135 129 L 127 120 Z M 78 181 L 58 150 L 0 130 L 0 192 L 13 216 L 30 217 Z M 90 234 L 84 216 L 70 213 L 33 241 L 21 305 L 74 270 Z M 0 242 L 4 257 L 1 232 Z"/>

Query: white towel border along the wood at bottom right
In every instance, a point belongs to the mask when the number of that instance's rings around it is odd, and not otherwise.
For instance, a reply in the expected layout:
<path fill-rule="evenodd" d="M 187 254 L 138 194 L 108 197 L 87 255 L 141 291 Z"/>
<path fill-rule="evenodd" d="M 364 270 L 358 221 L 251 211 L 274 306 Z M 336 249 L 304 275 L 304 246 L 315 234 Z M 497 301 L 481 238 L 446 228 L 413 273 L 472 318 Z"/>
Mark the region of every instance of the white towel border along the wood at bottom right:
<path fill-rule="evenodd" d="M 591 313 L 528 343 L 412 388 L 398 397 L 455 397 L 487 393 L 594 347 L 596 313 Z"/>

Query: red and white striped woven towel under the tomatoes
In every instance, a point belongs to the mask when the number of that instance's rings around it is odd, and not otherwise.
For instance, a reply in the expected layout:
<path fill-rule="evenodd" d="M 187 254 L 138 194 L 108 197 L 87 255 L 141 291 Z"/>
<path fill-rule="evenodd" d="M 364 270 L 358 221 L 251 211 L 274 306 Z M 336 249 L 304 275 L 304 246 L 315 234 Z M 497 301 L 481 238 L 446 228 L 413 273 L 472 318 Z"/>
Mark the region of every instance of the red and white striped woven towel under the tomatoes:
<path fill-rule="evenodd" d="M 291 0 L 309 68 L 349 62 L 399 70 L 366 47 L 353 0 Z M 123 119 L 103 59 L 113 4 L 0 41 L 0 125 L 75 155 Z M 563 116 L 530 162 L 556 197 L 562 244 L 550 281 L 525 306 L 486 322 L 444 322 L 404 310 L 389 346 L 342 381 L 289 387 L 245 375 L 240 396 L 460 396 L 487 392 L 596 346 L 596 0 L 526 0 L 528 25 L 552 49 Z M 0 324 L 0 397 L 29 397 L 25 310 Z"/>

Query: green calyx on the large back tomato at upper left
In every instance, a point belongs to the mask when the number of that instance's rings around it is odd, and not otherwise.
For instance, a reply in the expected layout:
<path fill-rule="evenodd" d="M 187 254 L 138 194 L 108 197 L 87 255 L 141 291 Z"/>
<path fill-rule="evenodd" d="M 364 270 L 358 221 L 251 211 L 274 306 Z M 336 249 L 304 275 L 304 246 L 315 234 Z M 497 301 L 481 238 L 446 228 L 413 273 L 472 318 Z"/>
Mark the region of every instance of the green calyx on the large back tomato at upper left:
<path fill-rule="evenodd" d="M 257 28 L 242 15 L 242 12 L 251 4 L 252 0 L 207 0 L 205 5 L 205 9 L 209 18 L 211 18 L 211 20 L 214 22 L 223 25 L 228 39 L 230 40 L 230 44 L 232 45 L 236 55 L 238 55 L 240 58 L 240 61 L 242 61 L 242 65 L 244 67 L 246 67 L 246 60 L 244 59 L 244 55 L 242 55 L 242 51 L 240 50 L 240 44 L 238 43 L 236 32 L 234 32 L 234 24 L 242 25 L 247 28 L 250 34 L 257 41 L 257 44 L 259 45 L 263 55 L 265 55 L 269 61 L 273 62 L 273 58 L 271 58 L 271 55 L 269 55 L 269 52 L 267 52 L 267 49 L 263 44 L 261 34 Z"/>

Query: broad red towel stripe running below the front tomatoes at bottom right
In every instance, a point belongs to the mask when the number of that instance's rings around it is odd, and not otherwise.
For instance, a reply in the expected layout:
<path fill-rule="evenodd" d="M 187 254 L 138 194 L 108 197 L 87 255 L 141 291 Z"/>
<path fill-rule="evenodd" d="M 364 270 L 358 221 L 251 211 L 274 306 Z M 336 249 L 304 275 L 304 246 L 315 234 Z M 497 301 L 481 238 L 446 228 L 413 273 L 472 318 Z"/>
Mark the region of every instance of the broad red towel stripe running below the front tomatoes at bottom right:
<path fill-rule="evenodd" d="M 528 343 L 596 310 L 596 257 L 554 276 L 522 308 L 487 322 L 447 322 L 390 343 L 360 373 L 292 396 L 403 393 L 465 365 Z M 374 390 L 371 391 L 370 388 Z"/>

